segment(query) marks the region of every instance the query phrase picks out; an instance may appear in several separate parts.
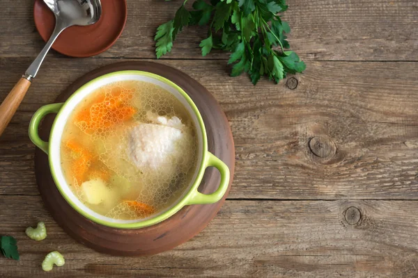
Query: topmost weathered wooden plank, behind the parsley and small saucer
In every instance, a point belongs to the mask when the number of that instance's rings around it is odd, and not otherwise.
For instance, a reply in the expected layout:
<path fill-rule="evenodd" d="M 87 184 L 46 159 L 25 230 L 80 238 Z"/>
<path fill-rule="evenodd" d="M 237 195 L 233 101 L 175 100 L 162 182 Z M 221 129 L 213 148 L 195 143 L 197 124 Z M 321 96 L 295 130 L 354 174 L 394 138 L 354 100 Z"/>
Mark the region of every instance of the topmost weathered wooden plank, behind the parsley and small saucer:
<path fill-rule="evenodd" d="M 189 1 L 190 5 L 192 1 Z M 158 25 L 176 13 L 180 1 L 127 1 L 121 38 L 100 57 L 155 58 Z M 304 59 L 418 60 L 418 9 L 414 0 L 288 1 L 284 14 L 291 46 Z M 33 24 L 33 1 L 0 1 L 0 57 L 35 57 L 43 42 Z M 169 58 L 202 58 L 206 27 L 186 28 Z M 51 54 L 60 57 L 59 54 Z M 214 53 L 207 58 L 227 58 Z"/>

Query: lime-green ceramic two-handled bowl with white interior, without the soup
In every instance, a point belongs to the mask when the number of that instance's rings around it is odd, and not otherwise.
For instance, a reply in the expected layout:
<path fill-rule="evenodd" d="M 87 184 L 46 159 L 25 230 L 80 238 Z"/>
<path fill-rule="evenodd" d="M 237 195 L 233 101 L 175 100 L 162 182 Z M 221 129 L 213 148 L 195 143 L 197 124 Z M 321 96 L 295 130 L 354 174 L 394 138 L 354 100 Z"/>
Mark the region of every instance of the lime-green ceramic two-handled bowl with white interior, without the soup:
<path fill-rule="evenodd" d="M 114 83 L 116 81 L 128 81 L 128 80 L 137 80 L 137 81 L 146 81 L 158 85 L 165 90 L 171 92 L 178 100 L 182 102 L 185 106 L 189 115 L 192 117 L 192 121 L 196 127 L 197 138 L 199 140 L 199 156 L 197 159 L 197 165 L 195 167 L 194 179 L 192 179 L 191 184 L 185 190 L 183 195 L 175 202 L 170 208 L 166 211 L 162 211 L 159 214 L 151 215 L 149 218 L 141 220 L 117 220 L 113 218 L 107 218 L 104 215 L 100 215 L 95 211 L 92 211 L 86 205 L 84 205 L 75 195 L 72 193 L 72 190 L 68 186 L 68 183 L 65 181 L 63 170 L 61 169 L 61 137 L 65 124 L 70 117 L 72 111 L 75 107 L 91 92 L 94 92 L 96 89 L 107 85 L 109 83 Z M 49 142 L 42 141 L 38 136 L 38 126 L 40 120 L 42 120 L 45 115 L 49 113 L 56 113 L 56 118 L 54 124 L 52 125 L 51 133 L 49 135 Z M 109 227 L 116 227 L 121 229 L 137 229 L 141 227 L 147 227 L 153 224 L 157 224 L 163 220 L 166 220 L 171 215 L 178 212 L 183 206 L 192 205 L 192 204 L 212 204 L 218 202 L 224 194 L 226 189 L 229 186 L 229 168 L 223 163 L 219 158 L 208 152 L 208 142 L 206 138 L 206 129 L 203 124 L 203 120 L 199 110 L 196 105 L 193 103 L 192 99 L 183 91 L 178 85 L 165 79 L 162 76 L 151 74 L 149 72 L 139 72 L 139 71 L 122 71 L 114 72 L 111 74 L 105 74 L 100 76 L 92 81 L 86 83 L 81 88 L 79 88 L 72 96 L 61 104 L 49 104 L 42 106 L 38 111 L 33 115 L 31 124 L 29 125 L 29 137 L 32 142 L 42 149 L 49 157 L 49 167 L 52 172 L 52 177 L 54 178 L 56 187 L 63 195 L 64 199 L 70 204 L 77 212 L 84 215 L 84 217 Z M 221 174 L 221 181 L 219 188 L 212 194 L 202 194 L 199 193 L 197 188 L 201 183 L 203 173 L 206 170 L 206 167 L 216 167 Z"/>

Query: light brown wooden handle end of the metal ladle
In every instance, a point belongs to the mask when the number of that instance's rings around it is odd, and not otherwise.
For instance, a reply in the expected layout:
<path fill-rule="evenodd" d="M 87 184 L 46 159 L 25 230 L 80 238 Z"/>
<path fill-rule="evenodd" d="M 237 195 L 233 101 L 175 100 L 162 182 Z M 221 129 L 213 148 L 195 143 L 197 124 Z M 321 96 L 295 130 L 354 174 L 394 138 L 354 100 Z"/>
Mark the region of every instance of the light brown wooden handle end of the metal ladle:
<path fill-rule="evenodd" d="M 24 95 L 29 89 L 31 81 L 22 77 L 19 82 L 16 83 L 15 87 L 9 92 L 6 99 L 0 105 L 0 136 L 6 129 L 6 126 L 12 120 L 13 115 L 17 111 Z"/>

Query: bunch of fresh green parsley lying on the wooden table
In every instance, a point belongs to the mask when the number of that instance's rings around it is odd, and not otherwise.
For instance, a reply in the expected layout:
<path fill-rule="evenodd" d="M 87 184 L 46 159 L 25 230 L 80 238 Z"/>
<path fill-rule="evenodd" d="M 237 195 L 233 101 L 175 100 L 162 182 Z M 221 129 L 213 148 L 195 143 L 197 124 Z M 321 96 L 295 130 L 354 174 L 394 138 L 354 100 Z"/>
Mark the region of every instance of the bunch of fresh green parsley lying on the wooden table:
<path fill-rule="evenodd" d="M 183 27 L 208 24 L 208 38 L 199 44 L 202 56 L 212 49 L 231 51 L 231 76 L 247 72 L 256 85 L 261 76 L 278 83 L 287 73 L 305 70 L 299 56 L 285 50 L 290 48 L 285 34 L 291 28 L 277 13 L 288 8 L 286 0 L 196 0 L 193 10 L 185 8 L 186 1 L 174 19 L 158 26 L 154 38 L 157 58 L 171 51 Z"/>

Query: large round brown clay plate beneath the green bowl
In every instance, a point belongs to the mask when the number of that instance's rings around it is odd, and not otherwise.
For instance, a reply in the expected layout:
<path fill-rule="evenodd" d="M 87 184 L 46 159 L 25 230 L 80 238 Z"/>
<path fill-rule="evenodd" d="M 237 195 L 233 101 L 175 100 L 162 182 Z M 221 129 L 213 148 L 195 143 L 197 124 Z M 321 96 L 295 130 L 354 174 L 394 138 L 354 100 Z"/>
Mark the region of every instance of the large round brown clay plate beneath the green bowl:
<path fill-rule="evenodd" d="M 56 102 L 65 101 L 72 92 L 75 92 L 86 82 L 103 74 L 120 70 L 153 72 L 170 79 L 187 92 L 197 108 L 199 108 L 203 122 L 205 122 L 209 151 L 221 158 L 231 170 L 231 182 L 229 183 L 229 188 L 231 188 L 235 151 L 229 122 L 215 98 L 210 95 L 210 92 L 199 82 L 179 70 L 158 63 L 142 61 L 107 65 L 89 72 L 75 81 L 75 83 L 72 83 L 67 90 L 59 95 Z M 43 140 L 48 140 L 53 120 L 54 115 L 48 115 L 42 122 L 40 137 Z M 181 243 L 185 243 L 185 241 L 203 230 L 210 220 L 215 217 L 229 192 L 228 188 L 226 195 L 216 204 L 185 206 L 171 218 L 150 227 L 142 229 L 114 229 L 87 220 L 63 199 L 49 172 L 47 155 L 40 149 L 36 149 L 35 171 L 36 182 L 38 183 L 42 199 L 56 222 L 70 236 L 84 243 L 84 245 L 98 252 L 112 255 L 150 255 L 171 250 Z M 217 189 L 219 182 L 219 172 L 208 168 L 199 191 L 206 194 L 212 193 Z"/>

